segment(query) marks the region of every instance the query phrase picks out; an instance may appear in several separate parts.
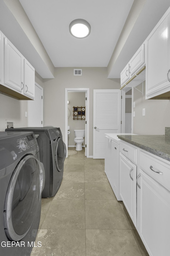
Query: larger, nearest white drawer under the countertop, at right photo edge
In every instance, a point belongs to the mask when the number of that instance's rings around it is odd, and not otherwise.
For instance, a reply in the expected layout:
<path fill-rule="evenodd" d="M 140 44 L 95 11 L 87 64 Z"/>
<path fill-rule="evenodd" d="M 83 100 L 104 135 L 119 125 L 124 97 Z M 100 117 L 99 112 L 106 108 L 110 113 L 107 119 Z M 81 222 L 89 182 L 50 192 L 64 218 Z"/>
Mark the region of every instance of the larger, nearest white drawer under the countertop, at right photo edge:
<path fill-rule="evenodd" d="M 170 191 L 170 162 L 165 162 L 160 157 L 140 150 L 139 166 L 146 174 Z"/>

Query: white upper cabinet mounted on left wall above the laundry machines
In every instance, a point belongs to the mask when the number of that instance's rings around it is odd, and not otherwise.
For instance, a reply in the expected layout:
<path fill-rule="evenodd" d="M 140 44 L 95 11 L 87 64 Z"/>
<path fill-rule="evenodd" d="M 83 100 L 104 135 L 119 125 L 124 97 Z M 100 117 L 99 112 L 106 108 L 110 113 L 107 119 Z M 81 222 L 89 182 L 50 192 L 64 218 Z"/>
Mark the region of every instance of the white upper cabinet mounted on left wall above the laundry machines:
<path fill-rule="evenodd" d="M 35 69 L 1 31 L 0 91 L 16 99 L 35 98 Z"/>

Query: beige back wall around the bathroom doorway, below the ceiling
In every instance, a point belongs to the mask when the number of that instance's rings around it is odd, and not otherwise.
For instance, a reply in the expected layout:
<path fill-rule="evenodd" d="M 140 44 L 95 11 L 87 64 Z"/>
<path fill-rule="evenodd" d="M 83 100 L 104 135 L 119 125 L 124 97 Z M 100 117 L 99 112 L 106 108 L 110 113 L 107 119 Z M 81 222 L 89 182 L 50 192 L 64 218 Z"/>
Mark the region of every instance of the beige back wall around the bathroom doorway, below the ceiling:
<path fill-rule="evenodd" d="M 81 67 L 79 67 L 81 69 Z M 55 69 L 54 79 L 44 79 L 44 126 L 60 127 L 65 141 L 65 88 L 90 88 L 89 155 L 93 155 L 93 90 L 119 89 L 120 79 L 107 79 L 106 67 L 82 67 L 82 76 L 73 75 L 74 67 Z"/>

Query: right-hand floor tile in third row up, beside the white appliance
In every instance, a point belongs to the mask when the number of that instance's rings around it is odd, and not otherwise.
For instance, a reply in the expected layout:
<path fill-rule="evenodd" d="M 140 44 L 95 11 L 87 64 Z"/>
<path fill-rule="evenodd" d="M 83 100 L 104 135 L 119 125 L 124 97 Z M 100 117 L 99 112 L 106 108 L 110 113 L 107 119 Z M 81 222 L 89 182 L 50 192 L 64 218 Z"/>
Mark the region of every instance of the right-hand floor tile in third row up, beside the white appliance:
<path fill-rule="evenodd" d="M 116 199 L 109 183 L 85 183 L 85 199 Z"/>

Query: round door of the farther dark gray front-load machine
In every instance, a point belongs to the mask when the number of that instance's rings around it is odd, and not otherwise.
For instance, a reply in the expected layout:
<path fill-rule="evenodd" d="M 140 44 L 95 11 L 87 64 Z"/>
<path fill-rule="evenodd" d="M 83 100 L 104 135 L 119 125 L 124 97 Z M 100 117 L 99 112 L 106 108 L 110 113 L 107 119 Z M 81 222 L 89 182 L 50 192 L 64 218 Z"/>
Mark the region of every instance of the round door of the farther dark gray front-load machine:
<path fill-rule="evenodd" d="M 61 138 L 58 138 L 56 143 L 56 167 L 58 171 L 63 170 L 64 160 L 65 160 L 65 150 L 64 143 Z"/>

